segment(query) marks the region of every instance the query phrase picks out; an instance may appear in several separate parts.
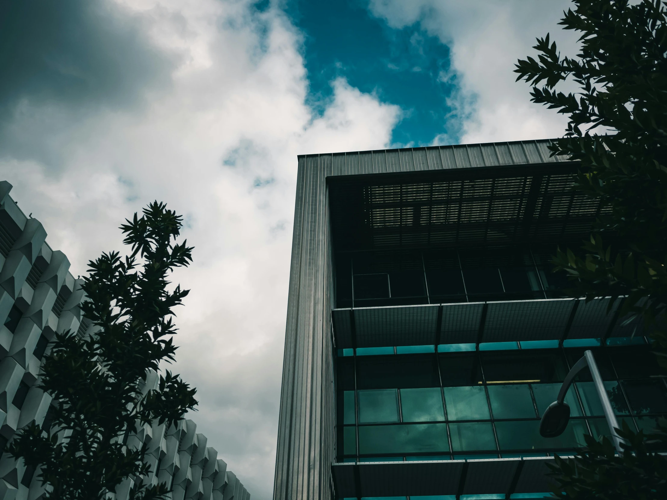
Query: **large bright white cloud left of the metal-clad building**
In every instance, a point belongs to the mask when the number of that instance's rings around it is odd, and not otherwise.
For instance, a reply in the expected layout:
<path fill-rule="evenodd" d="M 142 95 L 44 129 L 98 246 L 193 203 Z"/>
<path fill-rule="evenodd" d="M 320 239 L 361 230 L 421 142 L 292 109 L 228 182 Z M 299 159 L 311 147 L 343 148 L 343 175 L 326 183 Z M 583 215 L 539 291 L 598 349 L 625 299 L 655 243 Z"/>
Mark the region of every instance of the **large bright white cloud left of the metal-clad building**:
<path fill-rule="evenodd" d="M 271 496 L 296 155 L 386 147 L 399 109 L 344 79 L 313 119 L 300 38 L 246 2 L 126 1 L 179 61 L 132 107 L 81 109 L 26 95 L 7 121 L 27 138 L 0 177 L 43 222 L 74 275 L 121 249 L 116 229 L 153 199 L 185 216 L 194 264 L 175 276 L 177 366 L 199 388 L 191 415 L 255 499 Z M 31 147 L 33 145 L 33 147 Z M 35 153 L 39 151 L 39 154 Z"/>

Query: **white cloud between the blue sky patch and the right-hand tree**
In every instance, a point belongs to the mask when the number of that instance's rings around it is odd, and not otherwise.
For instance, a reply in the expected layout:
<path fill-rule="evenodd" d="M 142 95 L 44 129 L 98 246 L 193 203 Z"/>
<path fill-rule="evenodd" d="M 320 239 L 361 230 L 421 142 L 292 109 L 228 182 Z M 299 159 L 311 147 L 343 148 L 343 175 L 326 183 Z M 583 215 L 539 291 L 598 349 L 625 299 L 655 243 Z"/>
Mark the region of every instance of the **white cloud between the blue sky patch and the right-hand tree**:
<path fill-rule="evenodd" d="M 563 135 L 566 119 L 530 103 L 528 85 L 515 83 L 513 71 L 516 60 L 532 55 L 536 37 L 546 33 L 563 53 L 574 55 L 574 33 L 557 25 L 570 5 L 566 0 L 370 0 L 369 8 L 394 28 L 419 23 L 450 47 L 461 86 L 451 105 L 464 122 L 462 142 L 477 143 Z M 435 142 L 440 139 L 446 140 Z"/>

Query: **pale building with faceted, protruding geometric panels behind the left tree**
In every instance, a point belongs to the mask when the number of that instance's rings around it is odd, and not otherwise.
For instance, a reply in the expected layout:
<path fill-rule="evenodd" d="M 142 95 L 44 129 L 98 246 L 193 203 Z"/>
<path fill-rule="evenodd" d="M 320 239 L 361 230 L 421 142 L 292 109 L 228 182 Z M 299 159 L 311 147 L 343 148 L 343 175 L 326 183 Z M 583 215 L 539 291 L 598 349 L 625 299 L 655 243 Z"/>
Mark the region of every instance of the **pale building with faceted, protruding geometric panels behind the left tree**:
<path fill-rule="evenodd" d="M 95 326 L 81 315 L 81 281 L 69 273 L 69 261 L 46 243 L 37 219 L 26 217 L 0 182 L 0 452 L 31 421 L 48 427 L 51 397 L 35 387 L 39 366 L 55 332 L 89 335 Z M 148 384 L 157 388 L 157 376 Z M 165 428 L 145 425 L 129 445 L 147 443 L 152 484 L 167 483 L 172 500 L 249 500 L 250 495 L 191 420 Z M 62 439 L 62 435 L 60 435 Z M 34 469 L 7 453 L 0 458 L 0 499 L 39 500 L 44 488 Z M 115 492 L 125 500 L 133 485 Z"/>

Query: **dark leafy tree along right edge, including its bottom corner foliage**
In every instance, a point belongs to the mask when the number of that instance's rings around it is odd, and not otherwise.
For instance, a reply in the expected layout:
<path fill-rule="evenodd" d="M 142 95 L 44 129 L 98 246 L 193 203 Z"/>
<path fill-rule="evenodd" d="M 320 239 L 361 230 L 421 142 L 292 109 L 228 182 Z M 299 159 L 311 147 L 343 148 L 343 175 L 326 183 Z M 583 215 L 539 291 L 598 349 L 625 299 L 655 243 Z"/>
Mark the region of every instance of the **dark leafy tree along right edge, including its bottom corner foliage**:
<path fill-rule="evenodd" d="M 568 115 L 552 154 L 579 161 L 574 189 L 599 199 L 605 214 L 582 251 L 558 249 L 574 297 L 622 299 L 619 317 L 640 317 L 667 366 L 667 15 L 660 0 L 574 0 L 560 22 L 580 33 L 580 53 L 561 57 L 549 35 L 537 59 L 516 65 L 532 101 Z M 556 91 L 572 78 L 578 93 Z M 542 83 L 542 87 L 538 84 Z M 600 133 L 596 133 L 600 131 Z M 614 300 L 615 301 L 615 300 Z M 610 301 L 610 305 L 614 303 Z M 578 457 L 558 459 L 558 497 L 642 499 L 667 496 L 667 427 L 647 438 L 627 427 L 623 457 L 608 440 L 589 439 Z"/>

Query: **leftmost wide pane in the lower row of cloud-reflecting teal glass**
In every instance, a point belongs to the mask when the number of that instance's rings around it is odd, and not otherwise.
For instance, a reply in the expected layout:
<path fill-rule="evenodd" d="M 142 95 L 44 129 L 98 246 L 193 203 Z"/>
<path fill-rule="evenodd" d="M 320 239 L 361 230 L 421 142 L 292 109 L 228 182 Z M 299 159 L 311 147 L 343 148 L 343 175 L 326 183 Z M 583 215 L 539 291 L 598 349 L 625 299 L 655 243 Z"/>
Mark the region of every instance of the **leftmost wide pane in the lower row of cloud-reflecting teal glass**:
<path fill-rule="evenodd" d="M 450 451 L 447 424 L 364 425 L 359 453 L 438 453 Z"/>

